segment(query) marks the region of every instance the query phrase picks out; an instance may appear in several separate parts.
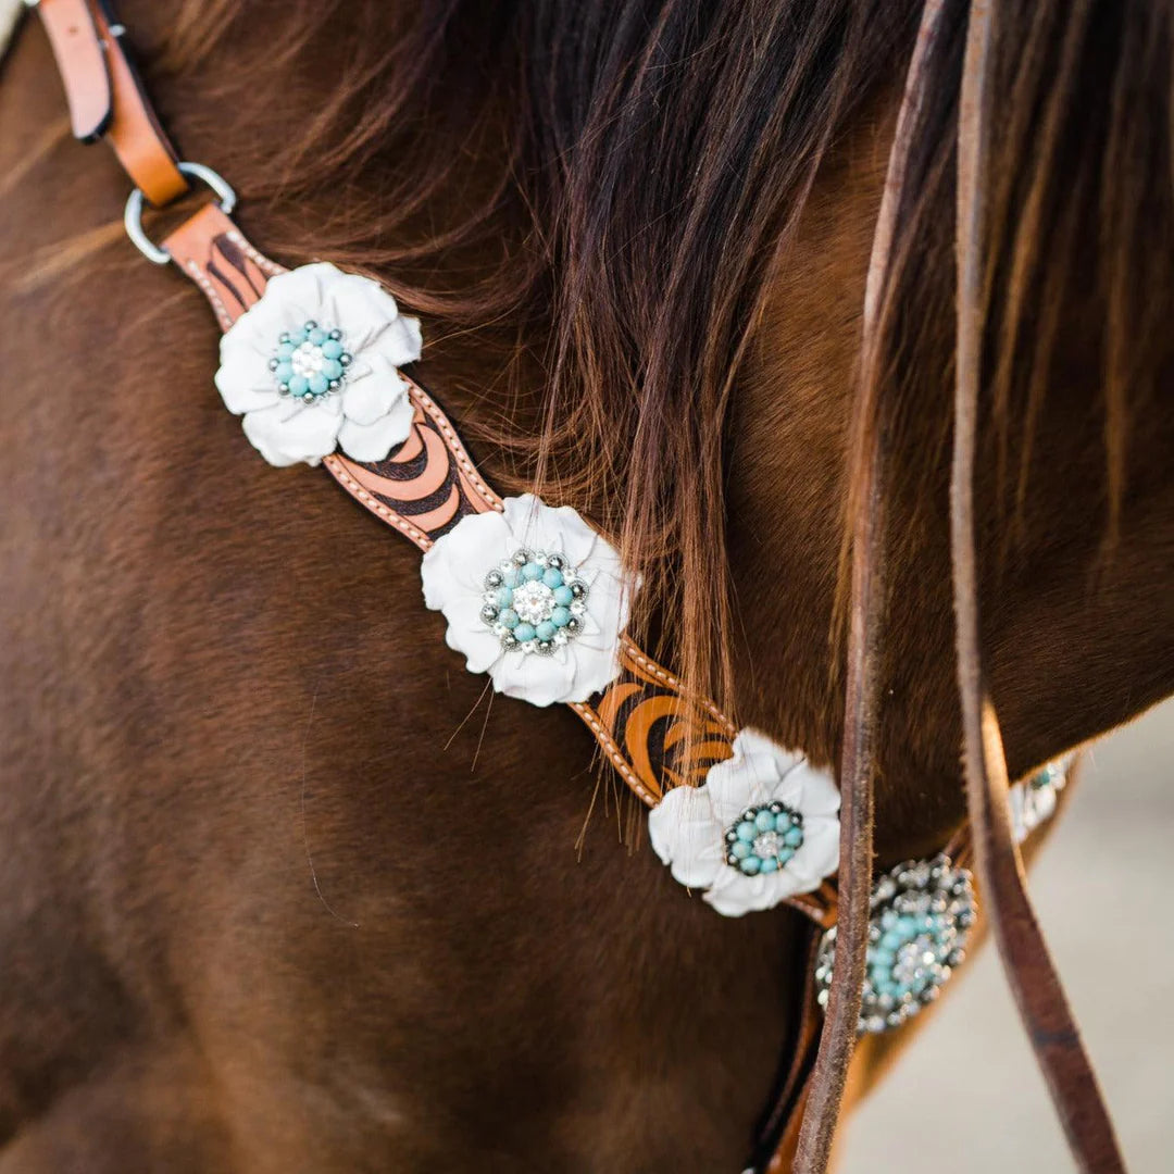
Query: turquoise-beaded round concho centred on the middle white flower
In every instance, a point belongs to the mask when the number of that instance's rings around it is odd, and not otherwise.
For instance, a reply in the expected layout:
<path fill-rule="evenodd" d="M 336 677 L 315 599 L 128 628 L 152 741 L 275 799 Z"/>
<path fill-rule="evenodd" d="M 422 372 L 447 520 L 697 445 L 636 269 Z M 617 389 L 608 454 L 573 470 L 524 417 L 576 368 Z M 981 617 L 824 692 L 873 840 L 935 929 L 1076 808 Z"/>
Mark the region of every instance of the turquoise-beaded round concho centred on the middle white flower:
<path fill-rule="evenodd" d="M 490 571 L 481 601 L 502 649 L 549 656 L 582 632 L 587 583 L 565 554 L 524 548 Z"/>

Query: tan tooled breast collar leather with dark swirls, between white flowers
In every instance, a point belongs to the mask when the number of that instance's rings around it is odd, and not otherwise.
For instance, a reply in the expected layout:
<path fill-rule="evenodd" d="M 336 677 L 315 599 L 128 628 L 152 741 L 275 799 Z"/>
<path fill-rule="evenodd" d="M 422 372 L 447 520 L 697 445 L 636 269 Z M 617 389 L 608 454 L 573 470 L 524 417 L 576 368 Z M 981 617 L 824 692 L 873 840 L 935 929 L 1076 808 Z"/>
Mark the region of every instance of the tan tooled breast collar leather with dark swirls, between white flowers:
<path fill-rule="evenodd" d="M 163 249 L 203 291 L 222 330 L 261 297 L 270 277 L 283 272 L 215 204 L 181 224 Z M 416 414 L 399 447 L 379 461 L 336 453 L 323 464 L 364 508 L 426 551 L 461 518 L 500 511 L 501 499 L 437 402 L 418 383 L 406 382 Z M 627 639 L 620 645 L 616 679 L 571 708 L 648 807 L 660 802 L 667 787 L 703 782 L 709 768 L 733 753 L 736 730 L 729 718 L 711 702 L 687 695 L 672 673 Z M 796 904 L 811 917 L 823 916 L 816 895 Z"/>

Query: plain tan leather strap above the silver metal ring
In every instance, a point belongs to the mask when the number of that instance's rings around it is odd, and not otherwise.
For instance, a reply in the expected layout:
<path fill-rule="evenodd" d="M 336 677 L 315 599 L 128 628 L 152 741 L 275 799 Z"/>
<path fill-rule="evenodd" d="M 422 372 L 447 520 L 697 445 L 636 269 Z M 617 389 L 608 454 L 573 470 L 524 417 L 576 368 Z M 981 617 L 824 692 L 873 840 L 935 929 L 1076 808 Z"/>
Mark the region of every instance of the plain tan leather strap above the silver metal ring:
<path fill-rule="evenodd" d="M 82 142 L 106 140 L 133 183 L 161 208 L 188 190 L 106 0 L 38 0 Z"/>

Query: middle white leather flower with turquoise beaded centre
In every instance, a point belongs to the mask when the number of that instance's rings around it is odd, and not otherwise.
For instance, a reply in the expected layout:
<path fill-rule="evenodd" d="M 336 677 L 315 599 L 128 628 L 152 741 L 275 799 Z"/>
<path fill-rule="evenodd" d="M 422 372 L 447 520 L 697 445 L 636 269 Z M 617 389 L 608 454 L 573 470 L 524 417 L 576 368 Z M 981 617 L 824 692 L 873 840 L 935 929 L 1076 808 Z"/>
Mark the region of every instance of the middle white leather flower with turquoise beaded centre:
<path fill-rule="evenodd" d="M 632 581 L 619 554 L 569 506 L 529 493 L 463 518 L 420 568 L 424 602 L 450 648 L 498 693 L 535 706 L 586 701 L 619 672 Z"/>

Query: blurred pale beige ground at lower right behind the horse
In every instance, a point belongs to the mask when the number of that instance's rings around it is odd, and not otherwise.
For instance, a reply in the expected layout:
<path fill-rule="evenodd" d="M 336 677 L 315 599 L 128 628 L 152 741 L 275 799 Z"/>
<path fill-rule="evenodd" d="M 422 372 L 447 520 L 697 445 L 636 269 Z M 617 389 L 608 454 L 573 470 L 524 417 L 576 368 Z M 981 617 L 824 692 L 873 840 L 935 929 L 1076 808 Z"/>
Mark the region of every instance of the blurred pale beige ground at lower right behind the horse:
<path fill-rule="evenodd" d="M 1174 1170 L 1174 702 L 1100 742 L 1031 892 L 1132 1174 Z M 844 1131 L 838 1174 L 1068 1174 L 993 943 Z"/>

